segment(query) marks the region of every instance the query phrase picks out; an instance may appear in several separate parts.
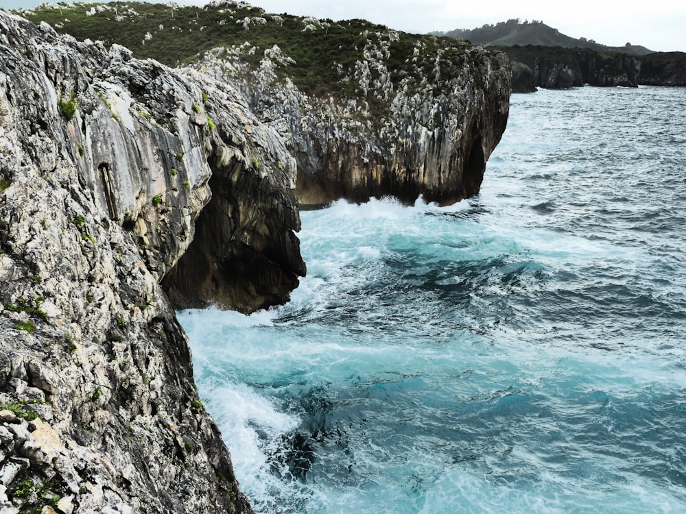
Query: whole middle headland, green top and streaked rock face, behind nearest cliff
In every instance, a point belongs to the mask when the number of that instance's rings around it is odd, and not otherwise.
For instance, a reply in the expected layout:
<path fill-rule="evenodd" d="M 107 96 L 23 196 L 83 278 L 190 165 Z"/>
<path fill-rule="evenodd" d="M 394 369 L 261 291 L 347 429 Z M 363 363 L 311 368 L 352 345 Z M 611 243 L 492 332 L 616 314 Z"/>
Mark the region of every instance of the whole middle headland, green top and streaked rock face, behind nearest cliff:
<path fill-rule="evenodd" d="M 63 9 L 25 14 L 239 84 L 287 141 L 301 206 L 383 195 L 451 204 L 475 195 L 506 127 L 506 56 L 452 38 L 233 1 Z M 210 42 L 216 48 L 206 49 Z"/>

